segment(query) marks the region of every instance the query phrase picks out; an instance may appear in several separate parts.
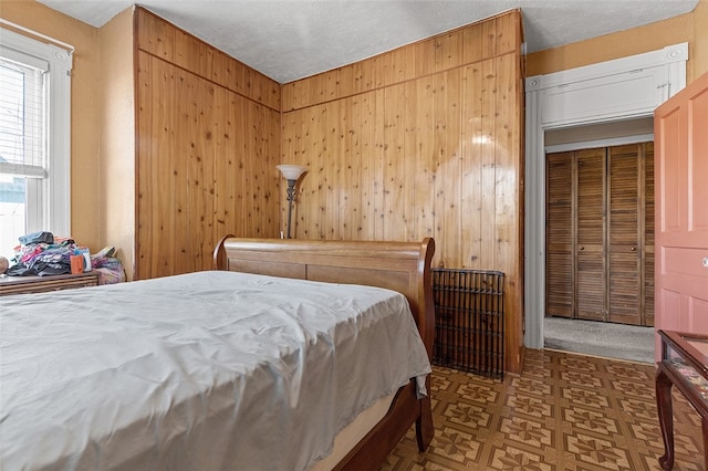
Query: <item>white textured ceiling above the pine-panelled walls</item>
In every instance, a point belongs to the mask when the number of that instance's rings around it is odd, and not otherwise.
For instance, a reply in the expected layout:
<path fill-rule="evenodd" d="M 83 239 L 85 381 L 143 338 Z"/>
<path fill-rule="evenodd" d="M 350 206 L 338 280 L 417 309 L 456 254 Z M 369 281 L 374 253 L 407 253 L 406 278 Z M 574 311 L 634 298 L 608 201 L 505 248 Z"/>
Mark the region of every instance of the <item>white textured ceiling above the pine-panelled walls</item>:
<path fill-rule="evenodd" d="M 104 25 L 131 0 L 38 0 Z M 691 11 L 698 0 L 143 0 L 140 6 L 287 83 L 520 8 L 535 52 Z"/>

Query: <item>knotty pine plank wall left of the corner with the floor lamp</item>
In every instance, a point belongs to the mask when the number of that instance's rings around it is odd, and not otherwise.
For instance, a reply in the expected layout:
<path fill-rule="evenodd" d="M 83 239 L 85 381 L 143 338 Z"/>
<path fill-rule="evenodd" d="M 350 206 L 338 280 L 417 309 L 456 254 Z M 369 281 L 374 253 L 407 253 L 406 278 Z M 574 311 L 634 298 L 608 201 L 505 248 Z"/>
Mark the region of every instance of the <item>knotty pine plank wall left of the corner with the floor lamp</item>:
<path fill-rule="evenodd" d="M 147 10 L 134 21 L 134 276 L 210 269 L 223 234 L 279 234 L 280 84 Z"/>

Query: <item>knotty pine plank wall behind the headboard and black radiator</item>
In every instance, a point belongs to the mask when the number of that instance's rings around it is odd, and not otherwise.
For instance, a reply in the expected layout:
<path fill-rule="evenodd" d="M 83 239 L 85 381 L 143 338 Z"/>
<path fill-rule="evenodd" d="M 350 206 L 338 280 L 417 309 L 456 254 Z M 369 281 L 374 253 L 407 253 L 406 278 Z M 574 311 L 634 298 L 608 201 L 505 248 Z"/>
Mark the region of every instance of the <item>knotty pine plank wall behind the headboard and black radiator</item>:
<path fill-rule="evenodd" d="M 521 35 L 511 11 L 282 87 L 282 163 L 309 168 L 294 237 L 431 236 L 435 266 L 503 271 L 509 371 L 523 343 Z"/>

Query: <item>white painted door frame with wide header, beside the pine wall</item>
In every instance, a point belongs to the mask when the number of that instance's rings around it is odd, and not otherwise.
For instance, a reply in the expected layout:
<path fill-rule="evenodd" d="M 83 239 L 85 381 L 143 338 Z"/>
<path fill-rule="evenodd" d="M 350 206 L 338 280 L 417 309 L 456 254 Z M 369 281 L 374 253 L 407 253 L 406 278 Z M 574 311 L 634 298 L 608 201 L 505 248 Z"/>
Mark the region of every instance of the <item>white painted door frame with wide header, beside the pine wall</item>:
<path fill-rule="evenodd" d="M 543 348 L 550 129 L 654 115 L 686 86 L 688 43 L 525 80 L 524 346 Z"/>

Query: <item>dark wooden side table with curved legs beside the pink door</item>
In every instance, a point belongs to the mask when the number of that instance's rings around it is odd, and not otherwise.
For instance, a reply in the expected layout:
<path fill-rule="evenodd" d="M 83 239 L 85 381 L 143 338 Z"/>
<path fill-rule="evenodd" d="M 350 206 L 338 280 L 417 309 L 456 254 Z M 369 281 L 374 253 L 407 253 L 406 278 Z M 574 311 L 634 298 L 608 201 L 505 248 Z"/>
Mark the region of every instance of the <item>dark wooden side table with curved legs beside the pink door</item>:
<path fill-rule="evenodd" d="M 688 399 L 700 415 L 704 461 L 708 469 L 708 335 L 658 331 L 662 360 L 656 371 L 656 407 L 664 439 L 662 469 L 674 467 L 674 411 L 671 386 Z"/>

